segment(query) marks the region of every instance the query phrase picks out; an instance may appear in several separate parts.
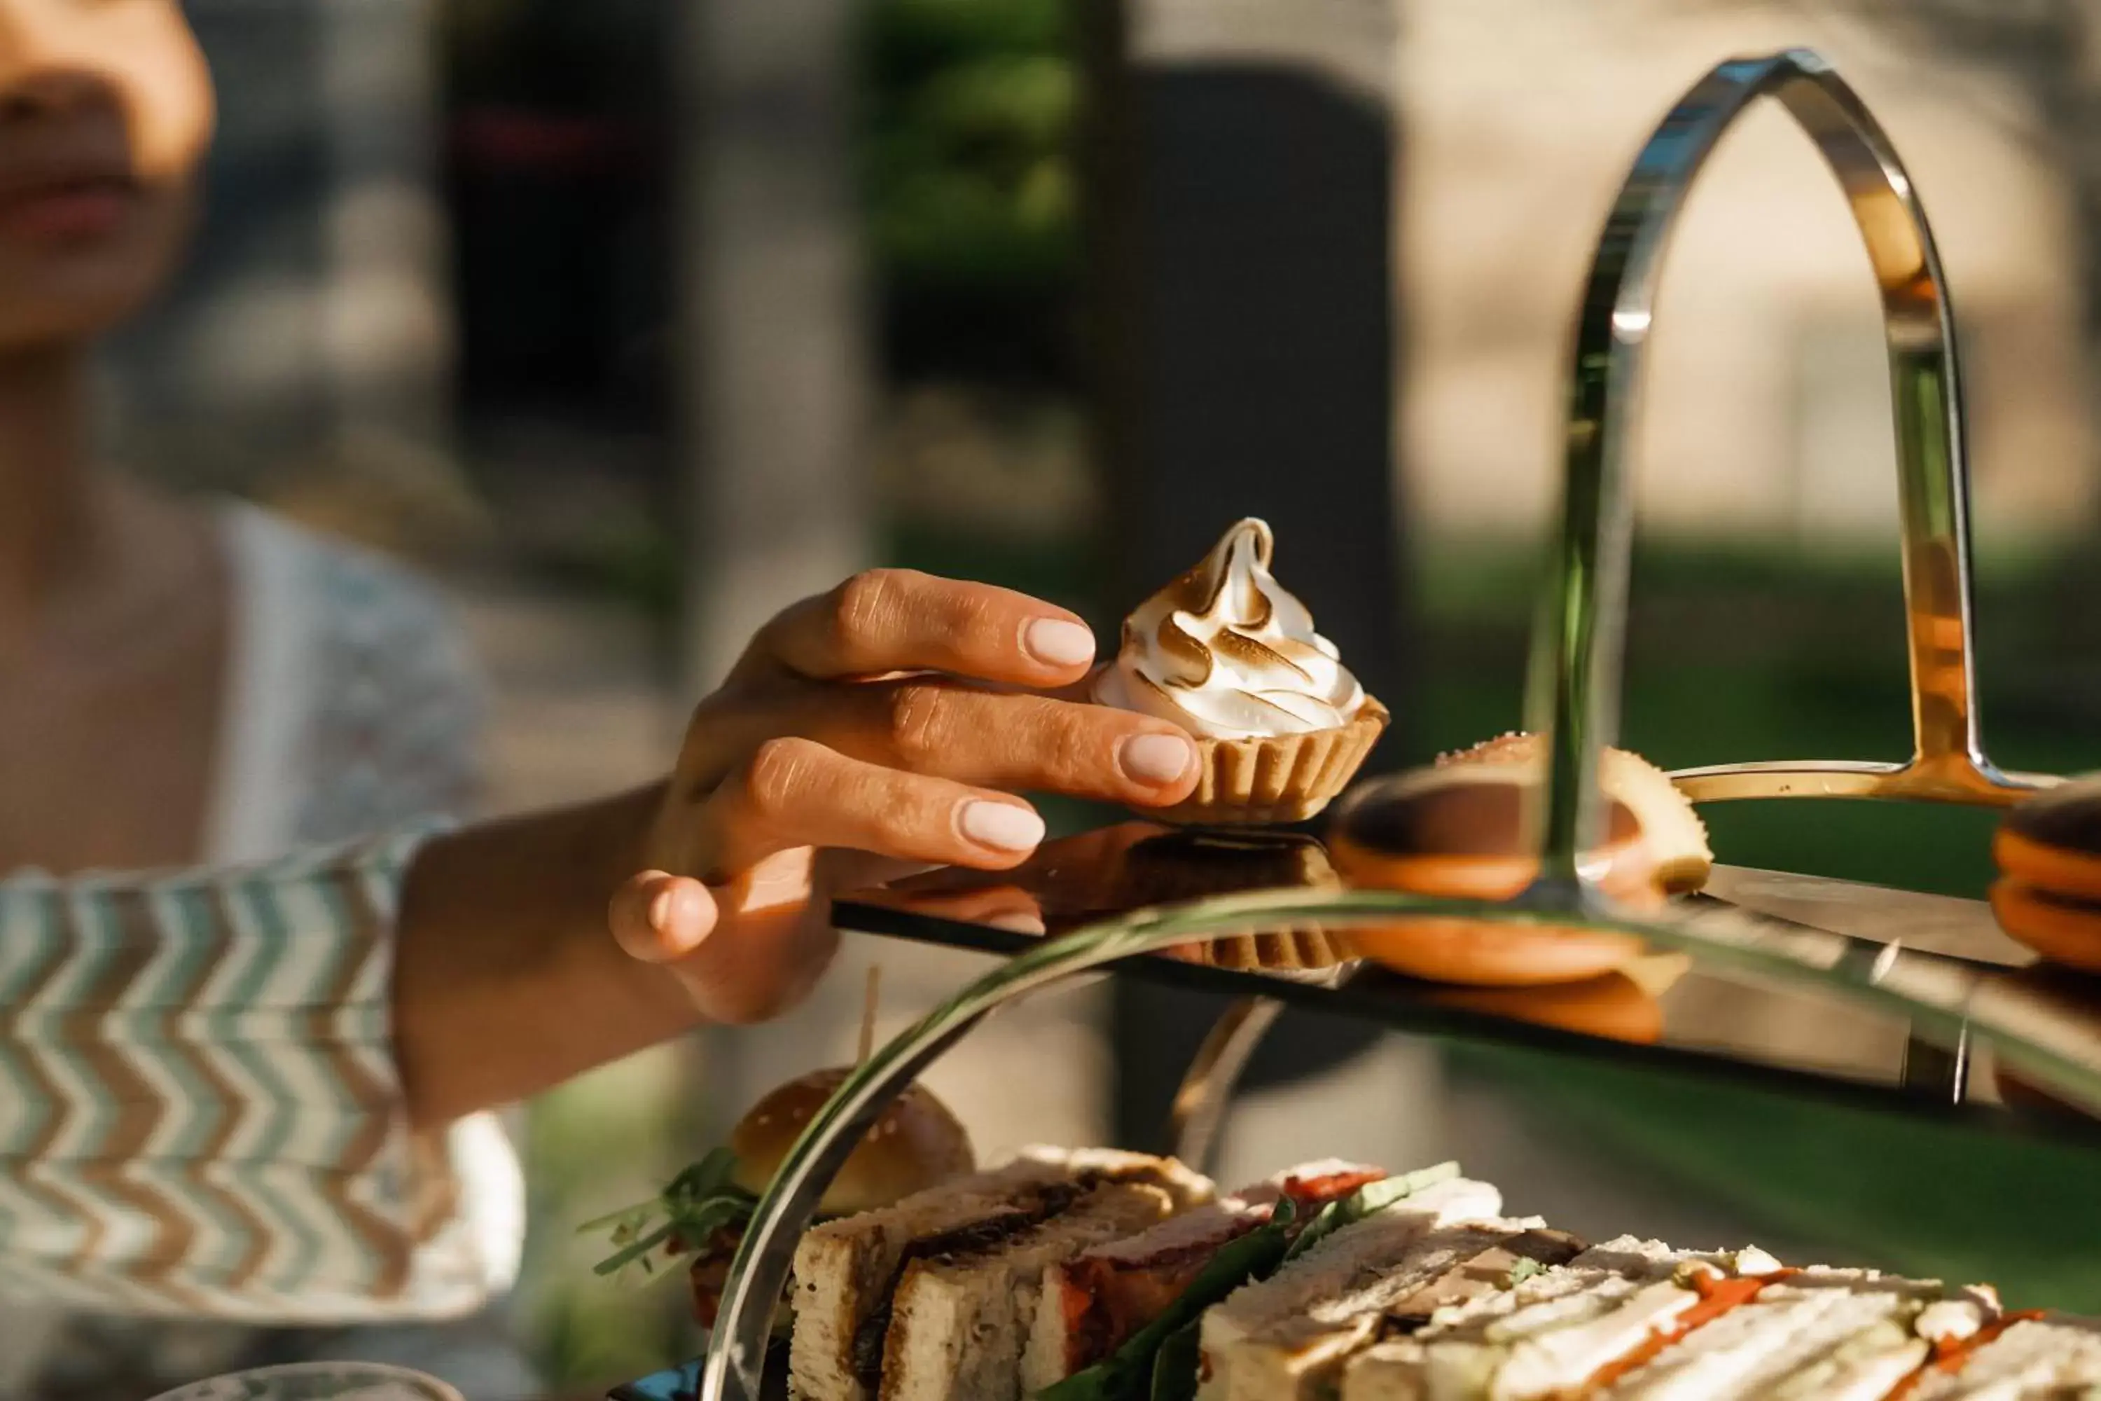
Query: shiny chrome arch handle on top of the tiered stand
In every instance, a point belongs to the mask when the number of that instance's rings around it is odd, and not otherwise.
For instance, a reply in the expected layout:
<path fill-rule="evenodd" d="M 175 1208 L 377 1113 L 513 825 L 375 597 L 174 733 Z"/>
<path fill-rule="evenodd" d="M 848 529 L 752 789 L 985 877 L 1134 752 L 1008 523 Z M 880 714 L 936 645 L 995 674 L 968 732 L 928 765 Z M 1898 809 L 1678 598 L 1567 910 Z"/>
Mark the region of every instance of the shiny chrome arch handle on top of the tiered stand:
<path fill-rule="evenodd" d="M 1731 59 L 1679 99 L 1614 200 L 1584 284 L 1567 389 L 1561 536 L 1534 634 L 1530 723 L 1551 735 L 1542 882 L 1580 888 L 1576 853 L 1595 832 L 1599 750 L 1618 737 L 1628 483 L 1643 349 L 1685 191 L 1721 134 L 1775 99 L 1845 191 L 1874 267 L 1897 426 L 1912 758 L 1803 760 L 1672 775 L 1696 802 L 1723 798 L 1908 798 L 2011 804 L 2055 779 L 1998 771 L 1977 731 L 1971 620 L 1969 464 L 1948 279 L 1933 231 L 1889 137 L 1815 53 Z"/>

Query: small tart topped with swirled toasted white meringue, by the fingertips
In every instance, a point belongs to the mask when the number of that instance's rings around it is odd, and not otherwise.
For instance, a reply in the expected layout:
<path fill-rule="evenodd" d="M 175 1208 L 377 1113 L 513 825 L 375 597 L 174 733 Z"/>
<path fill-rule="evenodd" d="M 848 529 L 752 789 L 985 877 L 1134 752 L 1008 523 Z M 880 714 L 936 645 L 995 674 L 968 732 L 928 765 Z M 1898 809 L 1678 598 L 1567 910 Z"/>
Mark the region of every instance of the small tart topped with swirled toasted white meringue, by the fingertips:
<path fill-rule="evenodd" d="M 1387 727 L 1313 613 L 1269 561 L 1269 525 L 1246 519 L 1124 620 L 1095 699 L 1195 735 L 1204 777 L 1166 821 L 1301 821 L 1343 792 Z"/>

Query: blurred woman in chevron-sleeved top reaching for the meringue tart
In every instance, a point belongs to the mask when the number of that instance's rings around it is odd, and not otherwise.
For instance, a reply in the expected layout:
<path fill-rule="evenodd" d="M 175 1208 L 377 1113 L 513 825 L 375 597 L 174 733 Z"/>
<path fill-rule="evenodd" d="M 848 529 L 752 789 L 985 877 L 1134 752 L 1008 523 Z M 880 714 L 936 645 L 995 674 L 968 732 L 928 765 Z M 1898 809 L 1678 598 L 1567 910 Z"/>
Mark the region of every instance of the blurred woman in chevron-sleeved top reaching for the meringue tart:
<path fill-rule="evenodd" d="M 817 849 L 1013 865 L 1042 821 L 998 790 L 1172 802 L 1195 754 L 1029 693 L 1093 662 L 1063 609 L 878 573 L 754 641 L 672 781 L 433 838 L 473 706 L 429 597 L 92 456 L 95 340 L 170 275 L 210 126 L 174 0 L 0 0 L 0 1395 L 303 1351 L 529 1395 L 393 1330 L 515 1273 L 485 1111 L 807 989 Z M 340 1323 L 389 1332 L 284 1332 Z"/>

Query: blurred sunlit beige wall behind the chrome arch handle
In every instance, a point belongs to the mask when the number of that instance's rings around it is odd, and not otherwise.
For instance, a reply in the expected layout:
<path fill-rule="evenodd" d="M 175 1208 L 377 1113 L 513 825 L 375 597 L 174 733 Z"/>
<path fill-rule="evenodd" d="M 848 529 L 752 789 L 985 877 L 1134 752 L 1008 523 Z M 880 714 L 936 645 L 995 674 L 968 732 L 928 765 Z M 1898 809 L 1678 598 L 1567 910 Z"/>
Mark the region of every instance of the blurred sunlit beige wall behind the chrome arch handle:
<path fill-rule="evenodd" d="M 2046 25 L 2082 8 L 1412 0 L 1401 460 L 1420 519 L 1445 536 L 1544 525 L 1569 328 L 1628 162 L 1712 63 L 1807 44 L 1861 90 L 1933 216 L 1967 361 L 1979 536 L 2086 527 L 2097 231 L 2078 214 L 2078 134 L 2053 128 L 2090 63 Z M 1958 11 L 1975 36 L 1950 27 Z M 1647 529 L 1893 540 L 1874 279 L 1836 185 L 1777 109 L 1725 139 L 1683 210 L 1639 454 Z"/>

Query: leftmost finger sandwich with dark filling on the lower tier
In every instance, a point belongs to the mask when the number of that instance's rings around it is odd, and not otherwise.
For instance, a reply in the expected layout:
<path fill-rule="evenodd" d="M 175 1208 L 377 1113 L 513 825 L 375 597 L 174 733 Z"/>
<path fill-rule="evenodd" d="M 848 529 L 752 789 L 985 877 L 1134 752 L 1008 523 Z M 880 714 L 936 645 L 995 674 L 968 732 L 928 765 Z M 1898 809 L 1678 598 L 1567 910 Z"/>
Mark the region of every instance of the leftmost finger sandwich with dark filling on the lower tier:
<path fill-rule="evenodd" d="M 813 1227 L 794 1256 L 790 1384 L 809 1401 L 1019 1399 L 1044 1269 L 1210 1197 L 1166 1157 L 1027 1149 Z"/>

